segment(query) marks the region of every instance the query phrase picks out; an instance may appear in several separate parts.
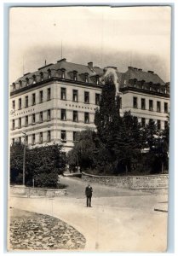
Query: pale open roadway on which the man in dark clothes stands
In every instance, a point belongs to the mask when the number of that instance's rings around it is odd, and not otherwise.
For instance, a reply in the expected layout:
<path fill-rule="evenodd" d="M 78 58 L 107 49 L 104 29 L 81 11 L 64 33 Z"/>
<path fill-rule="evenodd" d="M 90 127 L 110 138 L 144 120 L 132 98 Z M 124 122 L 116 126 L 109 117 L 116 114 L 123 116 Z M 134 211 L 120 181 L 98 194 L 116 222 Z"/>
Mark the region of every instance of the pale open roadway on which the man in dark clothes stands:
<path fill-rule="evenodd" d="M 167 201 L 166 195 L 117 191 L 92 184 L 93 207 L 88 208 L 84 197 L 86 183 L 70 177 L 62 179 L 62 183 L 68 184 L 66 197 L 11 197 L 9 205 L 66 221 L 85 236 L 88 252 L 163 252 L 166 249 L 167 213 L 154 211 L 155 206 Z"/>

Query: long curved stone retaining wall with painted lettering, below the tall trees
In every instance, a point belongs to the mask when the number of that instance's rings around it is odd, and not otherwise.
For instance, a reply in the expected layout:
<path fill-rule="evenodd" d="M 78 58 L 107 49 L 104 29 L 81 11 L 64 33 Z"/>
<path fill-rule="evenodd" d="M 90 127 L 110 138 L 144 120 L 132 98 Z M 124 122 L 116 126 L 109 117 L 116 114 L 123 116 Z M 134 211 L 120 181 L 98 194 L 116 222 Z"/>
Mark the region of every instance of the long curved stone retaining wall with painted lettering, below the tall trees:
<path fill-rule="evenodd" d="M 125 189 L 168 189 L 169 188 L 169 175 L 146 175 L 146 176 L 123 176 L 123 177 L 107 177 L 97 176 L 82 172 L 82 178 L 86 182 L 100 183 L 116 188 Z"/>

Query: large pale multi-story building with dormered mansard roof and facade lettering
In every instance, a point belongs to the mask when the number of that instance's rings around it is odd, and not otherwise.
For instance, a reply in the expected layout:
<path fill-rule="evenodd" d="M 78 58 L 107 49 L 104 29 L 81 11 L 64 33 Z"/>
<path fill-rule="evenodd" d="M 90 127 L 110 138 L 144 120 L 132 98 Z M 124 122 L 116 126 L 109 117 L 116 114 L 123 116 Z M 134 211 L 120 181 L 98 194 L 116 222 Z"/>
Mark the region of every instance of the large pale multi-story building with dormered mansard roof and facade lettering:
<path fill-rule="evenodd" d="M 119 73 L 116 67 L 94 67 L 62 59 L 17 79 L 10 90 L 11 143 L 23 140 L 32 147 L 63 143 L 66 151 L 76 140 L 76 132 L 95 129 L 95 108 L 100 103 L 104 78 L 112 73 L 121 114 L 130 110 L 142 125 L 154 119 L 164 129 L 169 112 L 169 84 L 157 74 L 129 67 Z"/>

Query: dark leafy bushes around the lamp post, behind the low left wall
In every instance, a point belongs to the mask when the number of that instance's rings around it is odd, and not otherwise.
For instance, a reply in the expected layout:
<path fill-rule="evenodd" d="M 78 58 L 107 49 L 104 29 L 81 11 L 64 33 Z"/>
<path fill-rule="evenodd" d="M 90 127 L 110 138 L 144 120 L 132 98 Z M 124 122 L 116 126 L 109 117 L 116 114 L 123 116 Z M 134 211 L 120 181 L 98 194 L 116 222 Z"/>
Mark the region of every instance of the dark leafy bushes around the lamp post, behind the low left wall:
<path fill-rule="evenodd" d="M 66 154 L 58 144 L 40 148 L 26 147 L 26 185 L 56 187 L 58 175 L 64 172 Z M 10 182 L 22 183 L 24 145 L 15 143 L 10 148 Z M 46 179 L 46 180 L 45 180 Z"/>

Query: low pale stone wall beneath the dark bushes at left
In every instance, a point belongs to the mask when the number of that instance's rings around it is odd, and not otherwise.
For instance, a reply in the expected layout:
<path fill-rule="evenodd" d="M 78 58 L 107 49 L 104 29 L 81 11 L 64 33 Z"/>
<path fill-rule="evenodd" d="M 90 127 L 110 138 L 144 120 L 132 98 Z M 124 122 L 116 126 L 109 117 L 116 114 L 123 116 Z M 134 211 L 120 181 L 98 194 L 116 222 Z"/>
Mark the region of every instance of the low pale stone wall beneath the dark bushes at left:
<path fill-rule="evenodd" d="M 11 195 L 60 197 L 67 195 L 66 189 L 40 189 L 24 186 L 10 186 Z"/>

